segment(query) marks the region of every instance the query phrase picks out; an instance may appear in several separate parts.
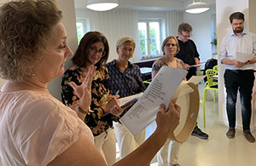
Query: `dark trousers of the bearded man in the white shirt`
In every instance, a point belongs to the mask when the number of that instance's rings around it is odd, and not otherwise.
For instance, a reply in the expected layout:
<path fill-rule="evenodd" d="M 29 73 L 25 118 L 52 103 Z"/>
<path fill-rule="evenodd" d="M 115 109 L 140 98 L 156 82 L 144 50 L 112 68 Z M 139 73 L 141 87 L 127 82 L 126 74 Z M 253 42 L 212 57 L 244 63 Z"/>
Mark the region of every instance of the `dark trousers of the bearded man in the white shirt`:
<path fill-rule="evenodd" d="M 236 128 L 236 99 L 240 92 L 241 117 L 243 130 L 250 129 L 252 116 L 252 93 L 254 83 L 253 70 L 225 70 L 226 110 L 230 128 Z"/>

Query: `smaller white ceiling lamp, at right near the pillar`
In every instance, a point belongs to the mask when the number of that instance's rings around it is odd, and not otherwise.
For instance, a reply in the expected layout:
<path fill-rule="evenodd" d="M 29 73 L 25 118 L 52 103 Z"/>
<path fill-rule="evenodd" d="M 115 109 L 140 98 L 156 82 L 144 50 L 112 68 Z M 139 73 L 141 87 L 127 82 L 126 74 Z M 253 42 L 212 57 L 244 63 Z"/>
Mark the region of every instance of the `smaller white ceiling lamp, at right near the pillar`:
<path fill-rule="evenodd" d="M 201 0 L 195 3 L 195 0 L 193 0 L 193 3 L 189 4 L 185 11 L 189 14 L 200 14 L 208 9 L 210 8 L 207 3 L 201 3 Z"/>

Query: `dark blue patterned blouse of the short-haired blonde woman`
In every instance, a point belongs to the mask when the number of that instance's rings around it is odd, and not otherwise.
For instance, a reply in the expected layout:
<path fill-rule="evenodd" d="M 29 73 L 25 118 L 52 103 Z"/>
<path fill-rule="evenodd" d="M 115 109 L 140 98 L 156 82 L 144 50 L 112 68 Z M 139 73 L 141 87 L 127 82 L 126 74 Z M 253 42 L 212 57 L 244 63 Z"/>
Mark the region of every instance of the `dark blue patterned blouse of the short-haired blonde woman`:
<path fill-rule="evenodd" d="M 120 98 L 144 91 L 145 86 L 139 66 L 133 65 L 128 61 L 128 67 L 125 72 L 120 72 L 119 67 L 116 66 L 116 60 L 109 62 L 106 66 L 113 95 L 118 90 Z"/>

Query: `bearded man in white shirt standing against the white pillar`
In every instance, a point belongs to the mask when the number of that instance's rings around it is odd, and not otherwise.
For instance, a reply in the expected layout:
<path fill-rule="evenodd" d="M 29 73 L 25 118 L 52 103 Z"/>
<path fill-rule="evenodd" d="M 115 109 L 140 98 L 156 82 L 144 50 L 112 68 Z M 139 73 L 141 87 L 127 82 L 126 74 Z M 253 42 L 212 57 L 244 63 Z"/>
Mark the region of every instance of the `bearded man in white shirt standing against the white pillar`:
<path fill-rule="evenodd" d="M 225 67 L 226 110 L 230 127 L 226 135 L 229 139 L 233 139 L 236 134 L 236 99 L 239 90 L 243 135 L 249 142 L 255 142 L 255 138 L 250 132 L 250 123 L 254 83 L 253 70 L 256 62 L 256 34 L 244 31 L 243 24 L 244 14 L 241 12 L 230 14 L 230 26 L 233 31 L 223 38 L 219 52 L 221 63 Z M 241 55 L 244 54 L 251 54 L 251 58 L 246 61 L 239 61 Z"/>

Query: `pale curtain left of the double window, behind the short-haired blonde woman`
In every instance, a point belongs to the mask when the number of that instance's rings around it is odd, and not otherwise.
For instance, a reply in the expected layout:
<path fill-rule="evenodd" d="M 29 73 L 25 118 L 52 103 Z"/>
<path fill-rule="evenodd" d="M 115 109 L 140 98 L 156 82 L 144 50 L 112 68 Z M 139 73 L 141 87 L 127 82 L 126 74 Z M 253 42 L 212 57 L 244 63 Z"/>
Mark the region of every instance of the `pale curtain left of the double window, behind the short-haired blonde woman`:
<path fill-rule="evenodd" d="M 101 31 L 108 39 L 109 58 L 108 61 L 116 59 L 115 43 L 119 37 L 128 35 L 138 41 L 137 22 L 138 12 L 132 9 L 113 9 L 107 12 L 90 12 L 90 30 Z M 134 57 L 139 59 L 139 46 L 137 45 Z M 134 60 L 132 60 L 134 61 Z"/>

